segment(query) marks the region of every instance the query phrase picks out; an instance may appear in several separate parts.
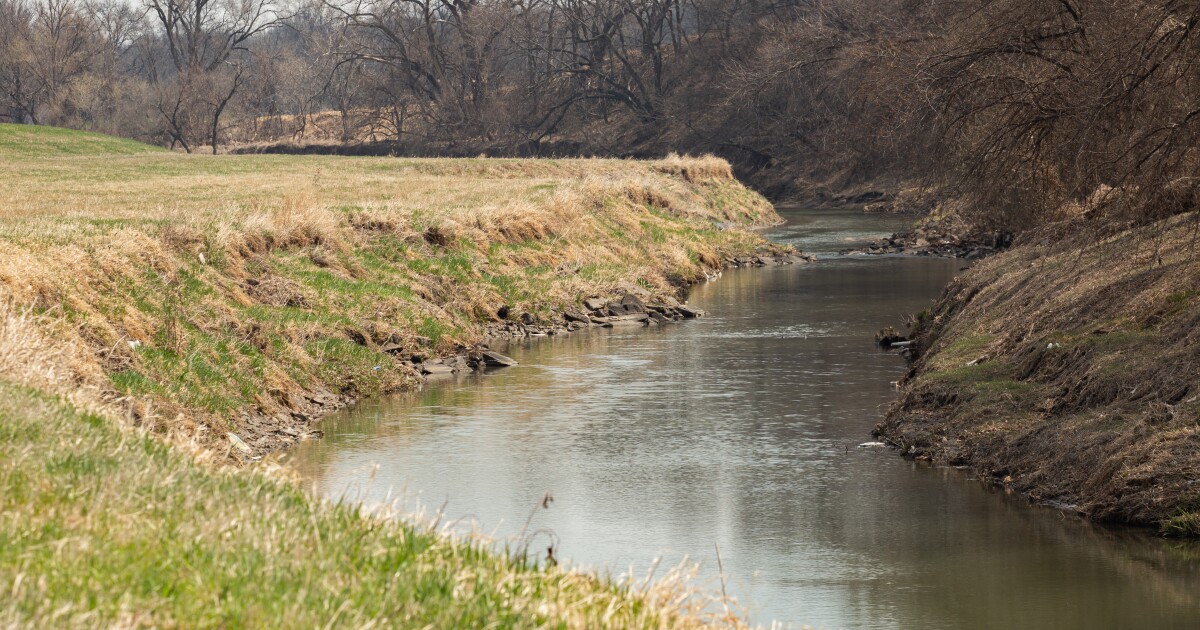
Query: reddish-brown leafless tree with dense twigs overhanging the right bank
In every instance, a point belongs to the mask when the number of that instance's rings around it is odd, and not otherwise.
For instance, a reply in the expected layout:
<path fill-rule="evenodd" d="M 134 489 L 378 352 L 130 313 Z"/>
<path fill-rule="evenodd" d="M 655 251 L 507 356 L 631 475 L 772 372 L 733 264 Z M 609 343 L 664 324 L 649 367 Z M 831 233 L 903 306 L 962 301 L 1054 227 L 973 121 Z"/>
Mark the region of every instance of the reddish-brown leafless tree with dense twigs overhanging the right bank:
<path fill-rule="evenodd" d="M 946 168 L 1008 221 L 1052 220 L 1099 186 L 1139 191 L 1135 216 L 1189 209 L 1153 191 L 1194 181 L 1198 24 L 1172 0 L 964 4 L 920 66 Z"/>

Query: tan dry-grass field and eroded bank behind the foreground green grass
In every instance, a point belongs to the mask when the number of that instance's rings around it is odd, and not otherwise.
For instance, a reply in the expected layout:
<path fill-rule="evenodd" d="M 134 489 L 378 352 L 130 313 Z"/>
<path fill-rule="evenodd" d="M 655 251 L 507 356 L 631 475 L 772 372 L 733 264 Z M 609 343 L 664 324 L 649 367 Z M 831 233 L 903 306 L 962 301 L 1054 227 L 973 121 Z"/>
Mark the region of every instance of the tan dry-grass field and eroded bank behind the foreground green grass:
<path fill-rule="evenodd" d="M 715 158 L 187 156 L 0 132 L 5 299 L 72 348 L 79 388 L 235 454 L 413 388 L 498 328 L 560 330 L 628 287 L 662 304 L 779 221 Z"/>

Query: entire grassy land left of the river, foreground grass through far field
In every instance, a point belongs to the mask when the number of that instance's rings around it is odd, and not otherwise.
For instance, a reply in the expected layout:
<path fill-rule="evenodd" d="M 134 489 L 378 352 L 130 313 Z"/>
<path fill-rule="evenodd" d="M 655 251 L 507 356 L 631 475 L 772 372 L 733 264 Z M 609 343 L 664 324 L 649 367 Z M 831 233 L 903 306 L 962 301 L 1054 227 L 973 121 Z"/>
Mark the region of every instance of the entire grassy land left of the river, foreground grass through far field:
<path fill-rule="evenodd" d="M 508 560 L 155 433 L 265 440 L 323 397 L 410 383 L 379 343 L 452 348 L 502 304 L 551 317 L 622 280 L 671 290 L 760 245 L 714 222 L 775 217 L 726 166 L 198 157 L 88 136 L 78 155 L 64 133 L 0 126 L 0 625 L 706 620 L 684 587 Z"/>

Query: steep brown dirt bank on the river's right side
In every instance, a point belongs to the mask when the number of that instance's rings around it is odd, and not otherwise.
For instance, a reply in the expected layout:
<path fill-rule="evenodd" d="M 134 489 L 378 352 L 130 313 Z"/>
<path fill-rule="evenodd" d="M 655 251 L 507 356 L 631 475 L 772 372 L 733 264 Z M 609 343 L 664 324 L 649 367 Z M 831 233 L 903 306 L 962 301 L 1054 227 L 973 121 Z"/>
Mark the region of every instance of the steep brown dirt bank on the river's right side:
<path fill-rule="evenodd" d="M 1200 534 L 1198 217 L 1027 233 L 917 320 L 877 433 L 1098 521 Z"/>

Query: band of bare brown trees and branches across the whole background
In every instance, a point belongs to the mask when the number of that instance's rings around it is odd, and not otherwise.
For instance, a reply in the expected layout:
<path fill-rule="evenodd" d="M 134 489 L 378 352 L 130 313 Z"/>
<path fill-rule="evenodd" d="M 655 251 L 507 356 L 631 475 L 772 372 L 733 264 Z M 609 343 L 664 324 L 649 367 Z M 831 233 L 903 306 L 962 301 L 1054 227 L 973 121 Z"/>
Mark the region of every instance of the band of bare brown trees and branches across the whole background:
<path fill-rule="evenodd" d="M 919 176 L 1013 226 L 1195 202 L 1190 1 L 140 2 L 0 0 L 0 119 L 188 151 L 714 151 L 768 192 Z"/>

